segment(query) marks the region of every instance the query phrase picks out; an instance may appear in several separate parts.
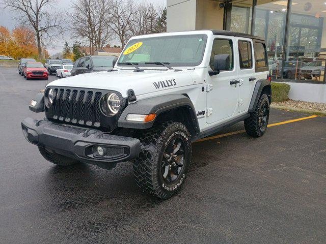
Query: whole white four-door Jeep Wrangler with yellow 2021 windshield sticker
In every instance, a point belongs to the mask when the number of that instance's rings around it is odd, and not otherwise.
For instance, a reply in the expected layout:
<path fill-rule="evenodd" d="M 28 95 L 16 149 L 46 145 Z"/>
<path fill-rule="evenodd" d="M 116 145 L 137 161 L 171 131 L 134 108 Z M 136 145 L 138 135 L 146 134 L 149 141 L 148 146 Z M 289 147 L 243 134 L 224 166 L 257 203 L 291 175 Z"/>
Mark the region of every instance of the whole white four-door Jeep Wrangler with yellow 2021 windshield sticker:
<path fill-rule="evenodd" d="M 134 37 L 113 70 L 56 80 L 31 101 L 25 138 L 57 165 L 112 169 L 133 160 L 136 184 L 160 198 L 179 191 L 192 142 L 244 120 L 267 128 L 271 86 L 264 40 L 226 31 Z"/>

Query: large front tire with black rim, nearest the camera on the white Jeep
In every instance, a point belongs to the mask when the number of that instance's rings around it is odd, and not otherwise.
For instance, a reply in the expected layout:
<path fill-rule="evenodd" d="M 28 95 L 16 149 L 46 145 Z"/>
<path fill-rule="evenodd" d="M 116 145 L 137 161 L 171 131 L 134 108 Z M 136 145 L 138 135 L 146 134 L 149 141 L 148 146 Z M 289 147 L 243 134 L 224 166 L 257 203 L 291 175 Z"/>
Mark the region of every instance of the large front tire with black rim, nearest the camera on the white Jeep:
<path fill-rule="evenodd" d="M 141 151 L 134 160 L 137 186 L 158 198 L 167 199 L 182 185 L 191 163 L 191 135 L 181 123 L 165 122 L 141 135 Z"/>

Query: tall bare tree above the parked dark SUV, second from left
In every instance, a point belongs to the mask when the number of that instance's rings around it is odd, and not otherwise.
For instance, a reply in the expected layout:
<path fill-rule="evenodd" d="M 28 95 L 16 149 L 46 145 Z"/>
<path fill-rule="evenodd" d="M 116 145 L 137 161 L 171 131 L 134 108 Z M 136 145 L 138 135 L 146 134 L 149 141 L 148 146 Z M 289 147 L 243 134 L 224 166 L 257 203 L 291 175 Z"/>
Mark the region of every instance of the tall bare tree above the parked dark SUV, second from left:
<path fill-rule="evenodd" d="M 108 26 L 110 20 L 110 0 L 77 0 L 73 3 L 72 35 L 74 38 L 87 39 L 90 53 L 94 47 L 102 49 L 113 39 L 112 29 Z"/>

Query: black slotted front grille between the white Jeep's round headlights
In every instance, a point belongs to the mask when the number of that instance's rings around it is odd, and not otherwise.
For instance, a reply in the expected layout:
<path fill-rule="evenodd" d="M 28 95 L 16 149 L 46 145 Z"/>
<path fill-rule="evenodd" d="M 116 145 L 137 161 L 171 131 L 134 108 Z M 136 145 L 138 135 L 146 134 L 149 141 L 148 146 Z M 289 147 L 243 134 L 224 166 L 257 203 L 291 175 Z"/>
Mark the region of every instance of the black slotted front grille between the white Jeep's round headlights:
<path fill-rule="evenodd" d="M 59 121 L 76 125 L 100 127 L 101 92 L 78 88 L 54 88 L 48 115 Z"/>

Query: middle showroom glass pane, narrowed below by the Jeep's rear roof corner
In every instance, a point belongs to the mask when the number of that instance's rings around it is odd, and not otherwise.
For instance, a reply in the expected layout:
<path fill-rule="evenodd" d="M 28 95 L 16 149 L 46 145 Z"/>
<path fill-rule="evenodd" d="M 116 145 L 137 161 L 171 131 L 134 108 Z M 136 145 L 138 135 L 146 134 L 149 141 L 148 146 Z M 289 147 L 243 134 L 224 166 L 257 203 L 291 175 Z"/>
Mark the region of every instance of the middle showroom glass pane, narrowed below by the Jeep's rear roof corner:
<path fill-rule="evenodd" d="M 257 0 L 254 35 L 266 40 L 268 69 L 273 79 L 282 78 L 287 1 Z"/>

